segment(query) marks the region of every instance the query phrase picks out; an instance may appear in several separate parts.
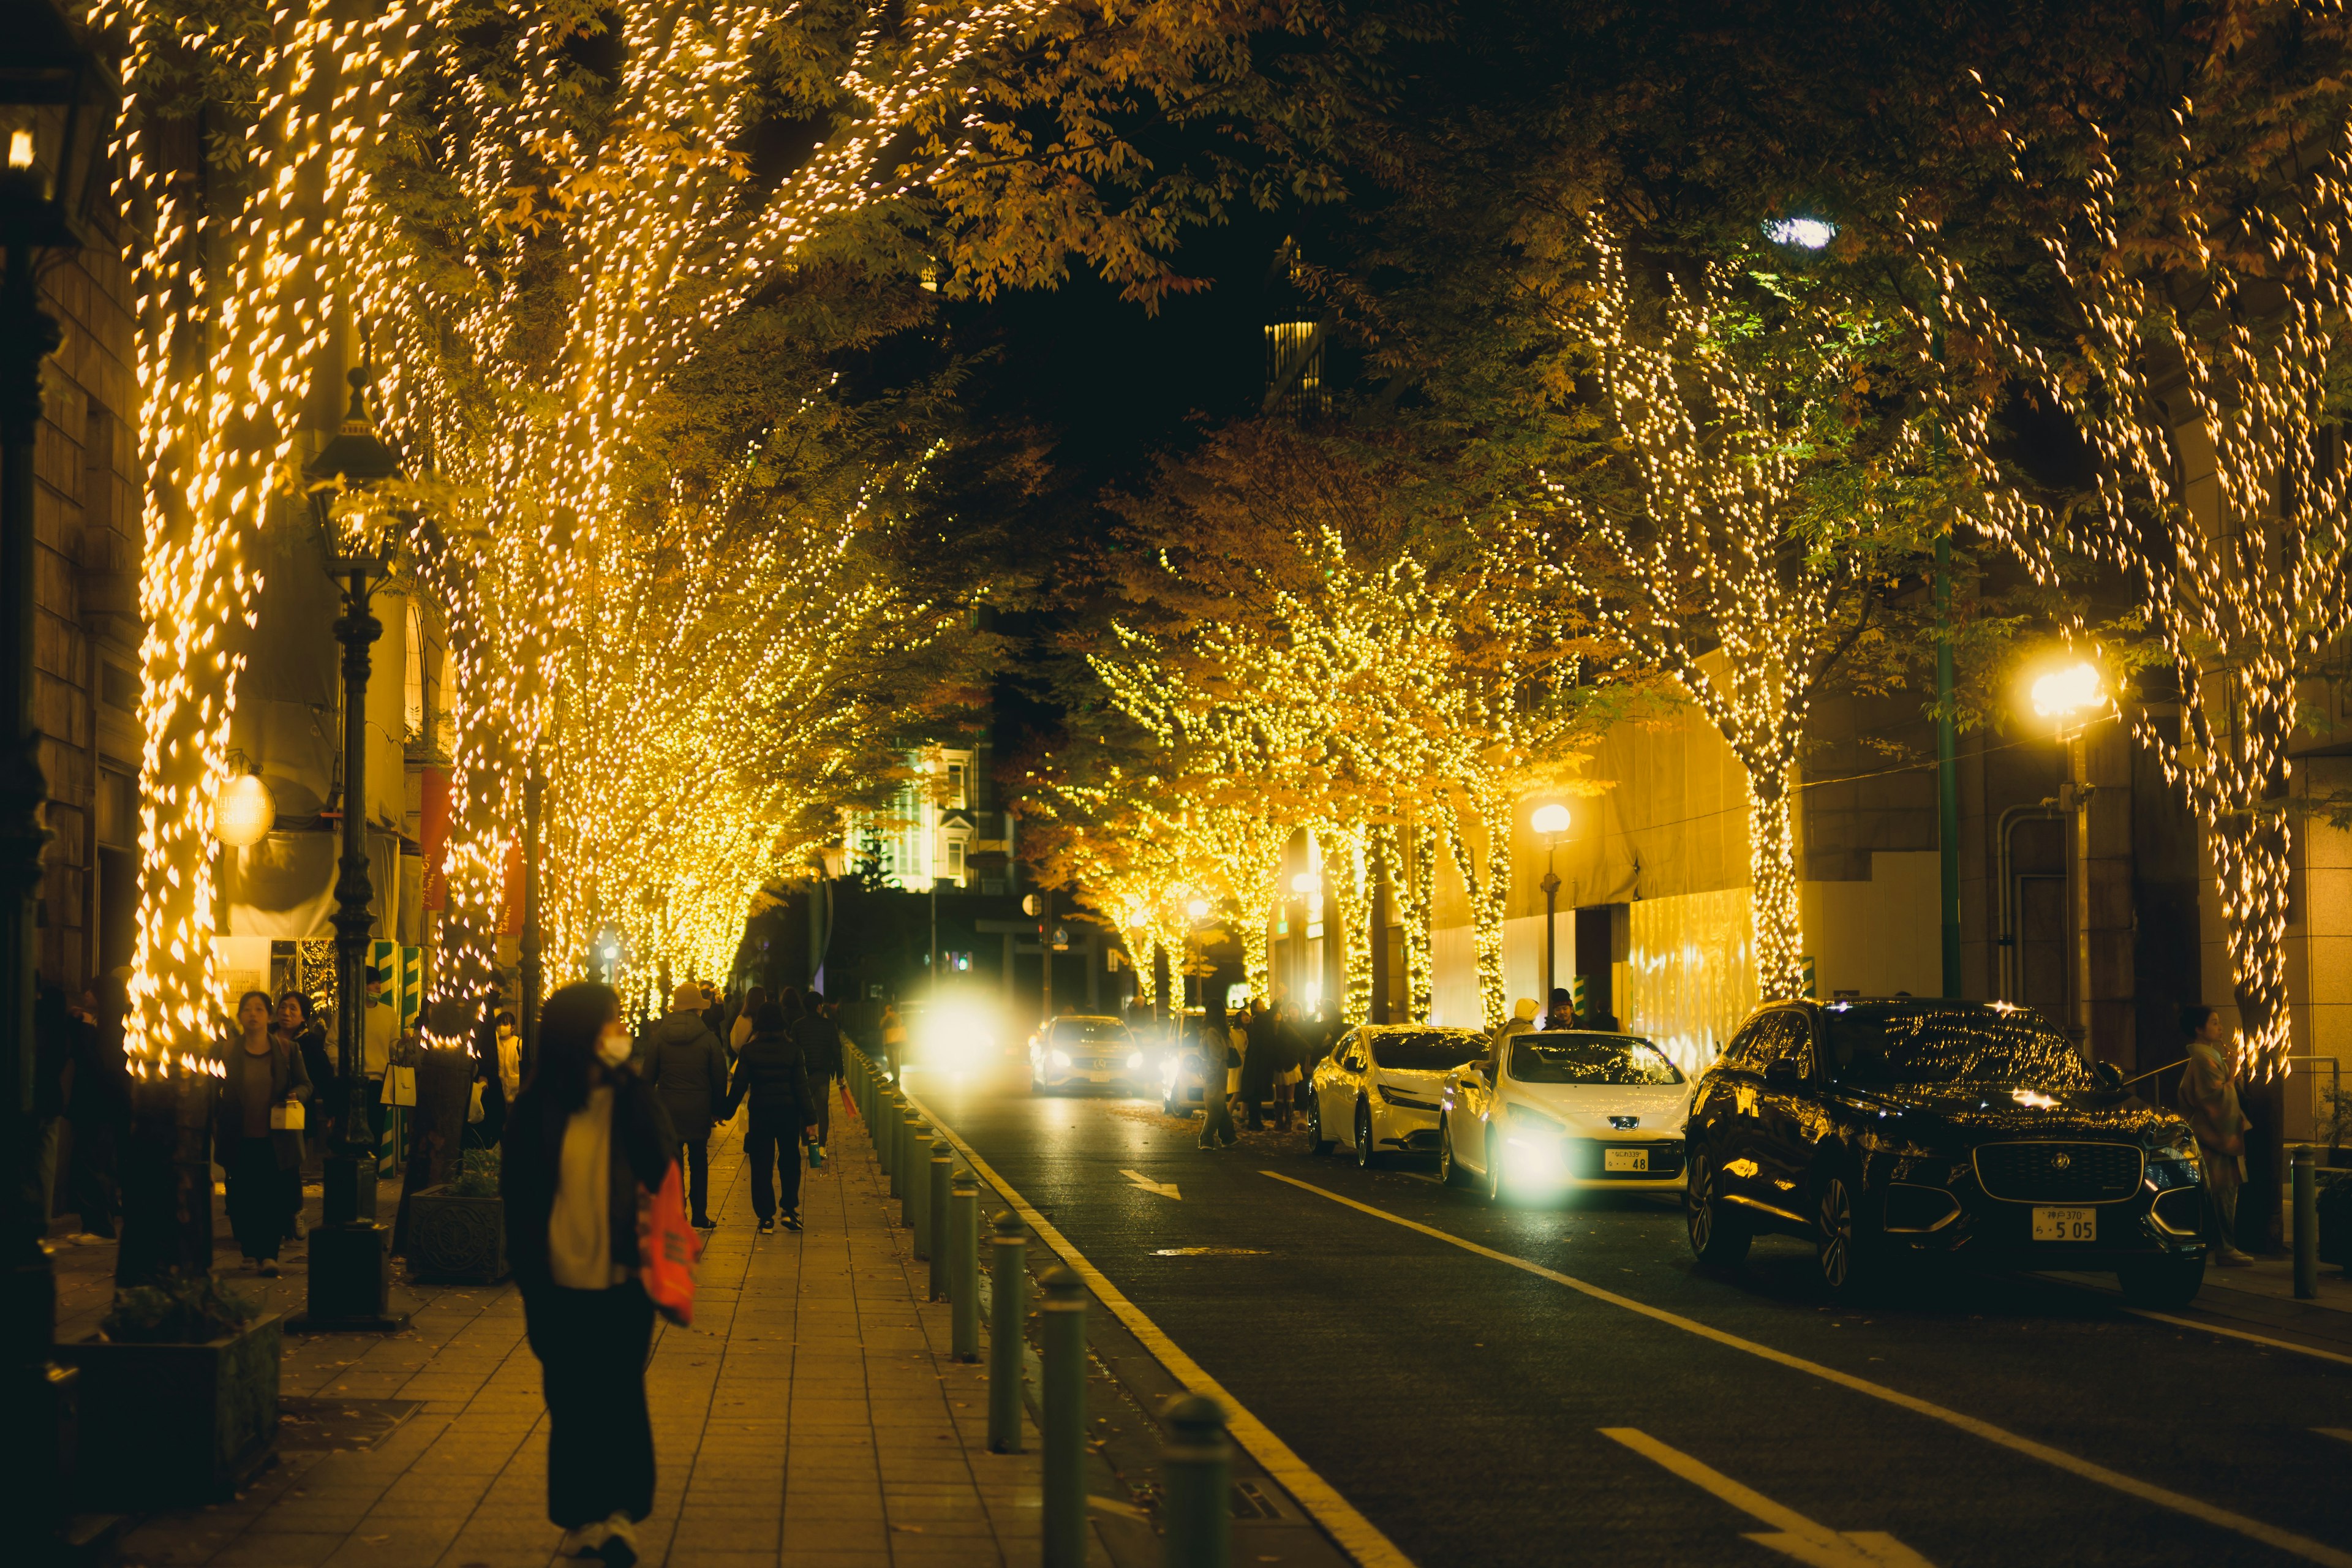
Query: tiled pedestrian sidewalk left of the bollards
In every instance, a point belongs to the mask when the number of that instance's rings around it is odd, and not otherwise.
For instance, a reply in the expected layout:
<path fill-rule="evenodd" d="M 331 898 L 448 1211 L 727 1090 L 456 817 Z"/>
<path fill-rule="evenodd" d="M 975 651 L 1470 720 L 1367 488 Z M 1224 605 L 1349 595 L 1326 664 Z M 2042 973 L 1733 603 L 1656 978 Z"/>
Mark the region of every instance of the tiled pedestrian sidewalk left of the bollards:
<path fill-rule="evenodd" d="M 713 1147 L 720 1229 L 694 1328 L 656 1328 L 647 1373 L 659 1493 L 644 1563 L 964 1568 L 1037 1561 L 1037 1441 L 988 1453 L 988 1385 L 948 1352 L 929 1265 L 891 1229 L 873 1145 L 835 1112 L 807 1173 L 807 1232 L 757 1237 L 741 1145 Z M 713 1138 L 713 1143 L 722 1143 Z M 315 1201 L 313 1201 L 315 1208 Z M 301 1251 L 240 1288 L 289 1312 Z M 59 1338 L 106 1312 L 113 1246 L 66 1246 Z M 158 1514 L 122 1537 L 139 1568 L 541 1568 L 546 1408 L 513 1286 L 395 1286 L 397 1335 L 287 1338 L 278 1465 L 233 1502 Z"/>

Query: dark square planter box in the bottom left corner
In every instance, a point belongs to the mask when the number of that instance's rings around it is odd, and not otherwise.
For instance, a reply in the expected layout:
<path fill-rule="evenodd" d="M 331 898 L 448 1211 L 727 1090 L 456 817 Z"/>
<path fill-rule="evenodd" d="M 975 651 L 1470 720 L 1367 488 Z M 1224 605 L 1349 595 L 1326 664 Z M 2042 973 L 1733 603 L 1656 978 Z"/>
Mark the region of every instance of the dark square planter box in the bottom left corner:
<path fill-rule="evenodd" d="M 278 1441 L 278 1314 L 209 1345 L 59 1345 L 80 1368 L 87 1507 L 221 1502 Z"/>

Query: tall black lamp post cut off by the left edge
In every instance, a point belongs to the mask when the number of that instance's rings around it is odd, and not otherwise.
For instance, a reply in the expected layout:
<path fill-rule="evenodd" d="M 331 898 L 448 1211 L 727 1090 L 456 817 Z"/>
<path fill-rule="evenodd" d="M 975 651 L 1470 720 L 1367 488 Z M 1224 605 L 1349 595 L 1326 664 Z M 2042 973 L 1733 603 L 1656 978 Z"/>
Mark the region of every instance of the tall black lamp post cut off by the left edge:
<path fill-rule="evenodd" d="M 0 1356 L 9 1410 L 0 1429 L 0 1509 L 33 1552 L 54 1552 L 73 1483 L 73 1373 L 49 1354 L 56 1272 L 33 1117 L 33 985 L 40 943 L 40 853 L 49 842 L 33 719 L 33 444 L 40 362 L 64 341 L 33 289 L 35 252 L 80 247 L 80 219 L 101 174 L 101 139 L 120 94 L 106 66 L 47 0 L 0 2 Z"/>

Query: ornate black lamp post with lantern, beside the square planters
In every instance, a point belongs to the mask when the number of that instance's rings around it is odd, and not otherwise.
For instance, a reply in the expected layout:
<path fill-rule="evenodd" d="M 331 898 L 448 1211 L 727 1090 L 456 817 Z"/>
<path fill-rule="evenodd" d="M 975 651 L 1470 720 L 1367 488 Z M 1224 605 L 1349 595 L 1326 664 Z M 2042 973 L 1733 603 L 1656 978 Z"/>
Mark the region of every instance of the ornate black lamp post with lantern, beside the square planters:
<path fill-rule="evenodd" d="M 390 1232 L 376 1225 L 376 1147 L 369 1135 L 365 1065 L 367 940 L 367 649 L 383 635 L 372 614 L 390 576 L 400 517 L 379 494 L 400 480 L 400 456 L 367 416 L 367 371 L 350 371 L 343 428 L 303 468 L 310 510 L 327 555 L 327 576 L 343 590 L 334 637 L 343 644 L 343 856 L 334 879 L 334 1034 L 346 1100 L 336 1147 L 327 1154 L 325 1213 L 310 1232 L 310 1302 L 301 1328 L 390 1331 L 409 1321 L 390 1312 Z"/>

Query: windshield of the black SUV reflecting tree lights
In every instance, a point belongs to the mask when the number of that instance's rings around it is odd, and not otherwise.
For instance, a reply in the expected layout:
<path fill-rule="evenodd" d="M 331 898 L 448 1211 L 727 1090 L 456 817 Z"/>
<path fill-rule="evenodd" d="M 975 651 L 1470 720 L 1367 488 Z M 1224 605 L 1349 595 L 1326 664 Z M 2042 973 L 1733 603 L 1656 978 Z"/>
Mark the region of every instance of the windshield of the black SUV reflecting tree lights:
<path fill-rule="evenodd" d="M 1830 1072 L 1842 1084 L 2002 1084 L 2091 1088 L 2072 1039 L 2023 1006 L 1830 1006 Z"/>

